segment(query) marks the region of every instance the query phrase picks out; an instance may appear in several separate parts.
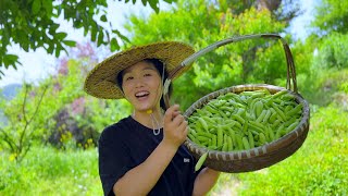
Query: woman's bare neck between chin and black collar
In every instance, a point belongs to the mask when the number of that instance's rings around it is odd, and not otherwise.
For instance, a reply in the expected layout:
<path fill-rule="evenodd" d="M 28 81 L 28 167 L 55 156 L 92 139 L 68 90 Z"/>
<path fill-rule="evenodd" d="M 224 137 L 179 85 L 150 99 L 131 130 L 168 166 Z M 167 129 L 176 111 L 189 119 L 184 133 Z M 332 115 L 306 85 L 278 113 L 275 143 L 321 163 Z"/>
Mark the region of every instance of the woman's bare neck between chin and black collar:
<path fill-rule="evenodd" d="M 152 113 L 147 111 L 134 111 L 133 119 L 149 128 L 163 127 L 163 112 L 161 109 L 153 110 Z"/>

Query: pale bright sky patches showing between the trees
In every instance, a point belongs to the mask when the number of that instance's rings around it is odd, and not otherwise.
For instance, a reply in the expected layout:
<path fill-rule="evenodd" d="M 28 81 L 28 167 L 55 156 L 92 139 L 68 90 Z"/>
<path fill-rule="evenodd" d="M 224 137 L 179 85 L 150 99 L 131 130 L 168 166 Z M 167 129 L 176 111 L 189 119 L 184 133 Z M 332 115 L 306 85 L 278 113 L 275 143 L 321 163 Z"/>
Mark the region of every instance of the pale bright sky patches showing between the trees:
<path fill-rule="evenodd" d="M 306 28 L 306 26 L 313 19 L 313 8 L 316 1 L 300 1 L 302 3 L 301 7 L 304 11 L 304 14 L 293 21 L 289 32 L 295 36 L 295 38 L 304 39 L 309 34 L 309 30 Z M 136 13 L 137 15 L 146 16 L 147 14 L 153 12 L 149 5 L 144 7 L 139 0 L 135 5 L 132 4 L 132 1 L 124 3 L 113 0 L 108 0 L 108 19 L 115 19 L 111 21 L 112 26 L 116 27 L 121 33 L 125 33 L 123 29 L 123 24 L 125 23 L 126 15 L 129 15 L 129 13 Z M 160 10 L 165 10 L 169 8 L 169 4 L 161 2 L 160 8 Z M 83 30 L 76 30 L 72 28 L 72 25 L 67 22 L 61 22 L 59 29 L 62 32 L 67 32 L 67 38 L 76 40 L 77 42 L 84 42 L 88 39 L 88 37 L 84 37 Z M 23 81 L 36 83 L 47 77 L 47 75 L 55 72 L 58 59 L 54 56 L 48 54 L 45 49 L 37 49 L 36 51 L 26 52 L 18 46 L 13 46 L 8 48 L 8 50 L 9 53 L 15 53 L 20 57 L 20 62 L 22 65 L 18 65 L 17 70 L 14 70 L 12 66 L 5 70 L 1 66 L 0 70 L 5 75 L 2 76 L 2 79 L 0 79 L 0 88 L 9 84 L 21 84 Z M 65 56 L 65 52 L 62 52 L 60 58 Z"/>

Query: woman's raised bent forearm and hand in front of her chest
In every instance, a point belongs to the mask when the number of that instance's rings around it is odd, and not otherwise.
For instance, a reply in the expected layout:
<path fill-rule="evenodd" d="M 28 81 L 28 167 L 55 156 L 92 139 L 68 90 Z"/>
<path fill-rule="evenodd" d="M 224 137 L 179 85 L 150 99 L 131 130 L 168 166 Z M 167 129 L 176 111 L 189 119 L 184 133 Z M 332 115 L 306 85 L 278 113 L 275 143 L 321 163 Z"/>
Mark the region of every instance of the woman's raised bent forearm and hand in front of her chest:
<path fill-rule="evenodd" d="M 151 155 L 114 184 L 116 195 L 147 195 L 153 188 L 187 135 L 187 122 L 178 113 L 178 106 L 165 112 L 163 130 L 163 140 Z"/>

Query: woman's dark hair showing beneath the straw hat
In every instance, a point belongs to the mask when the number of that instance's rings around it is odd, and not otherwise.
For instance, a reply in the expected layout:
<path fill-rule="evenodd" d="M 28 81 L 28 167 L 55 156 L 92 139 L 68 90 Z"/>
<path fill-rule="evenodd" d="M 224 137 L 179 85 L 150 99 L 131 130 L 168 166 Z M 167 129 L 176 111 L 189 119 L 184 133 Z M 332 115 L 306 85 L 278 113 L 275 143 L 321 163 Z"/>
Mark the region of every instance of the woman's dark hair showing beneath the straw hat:
<path fill-rule="evenodd" d="M 159 59 L 144 59 L 142 60 L 144 62 L 147 62 L 147 63 L 151 63 L 154 65 L 156 70 L 160 73 L 160 76 L 161 78 L 163 79 L 163 83 L 165 82 L 165 79 L 167 78 L 169 76 L 169 73 L 166 70 L 164 70 L 164 78 L 163 78 L 163 62 Z M 117 85 L 120 87 L 120 89 L 123 91 L 122 89 L 122 82 L 123 82 L 123 71 L 121 71 L 117 76 L 116 76 L 116 82 L 117 82 Z M 164 84 L 163 84 L 164 85 Z M 172 91 L 173 91 L 173 87 L 172 87 L 172 84 L 170 85 L 169 87 L 169 96 L 172 95 Z M 161 97 L 161 100 L 160 100 L 160 107 L 165 110 L 165 103 L 164 103 L 164 99 L 163 99 L 163 95 Z"/>

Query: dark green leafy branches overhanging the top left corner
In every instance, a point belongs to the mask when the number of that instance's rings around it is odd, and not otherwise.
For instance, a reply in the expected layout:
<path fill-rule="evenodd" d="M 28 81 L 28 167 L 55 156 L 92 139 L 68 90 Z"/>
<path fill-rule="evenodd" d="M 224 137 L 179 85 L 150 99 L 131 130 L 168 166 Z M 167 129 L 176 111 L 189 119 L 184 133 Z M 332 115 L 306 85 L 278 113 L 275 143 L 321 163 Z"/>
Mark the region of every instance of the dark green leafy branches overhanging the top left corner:
<path fill-rule="evenodd" d="M 129 0 L 125 0 L 127 3 Z M 173 2 L 173 0 L 164 0 Z M 133 3 L 136 0 L 132 0 Z M 159 12 L 159 0 L 141 0 Z M 84 36 L 90 35 L 98 46 L 110 45 L 111 50 L 120 48 L 117 40 L 128 41 L 107 17 L 107 0 L 4 0 L 0 1 L 0 68 L 20 63 L 16 54 L 8 53 L 8 47 L 17 44 L 28 52 L 44 48 L 57 58 L 66 47 L 75 46 L 66 39 L 67 33 L 60 30 L 59 17 L 72 22 L 73 27 L 83 29 Z M 111 29 L 111 30 L 110 30 Z M 0 78 L 2 72 L 0 72 Z"/>

